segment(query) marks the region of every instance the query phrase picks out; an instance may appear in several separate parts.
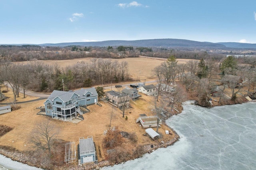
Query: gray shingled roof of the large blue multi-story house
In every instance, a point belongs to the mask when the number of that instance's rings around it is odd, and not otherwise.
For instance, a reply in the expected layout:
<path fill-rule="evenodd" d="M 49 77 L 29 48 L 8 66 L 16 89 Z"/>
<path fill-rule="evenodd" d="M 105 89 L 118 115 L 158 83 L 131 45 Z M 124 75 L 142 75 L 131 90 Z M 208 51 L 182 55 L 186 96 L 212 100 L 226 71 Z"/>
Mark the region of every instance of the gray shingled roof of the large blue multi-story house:
<path fill-rule="evenodd" d="M 74 94 L 78 94 L 78 98 L 84 98 L 84 94 L 91 92 L 93 96 L 98 96 L 95 88 L 86 88 L 81 90 L 76 90 L 72 92 L 54 90 L 52 94 L 48 97 L 49 100 L 54 100 L 54 98 L 59 97 L 63 102 L 67 102 L 71 99 Z"/>

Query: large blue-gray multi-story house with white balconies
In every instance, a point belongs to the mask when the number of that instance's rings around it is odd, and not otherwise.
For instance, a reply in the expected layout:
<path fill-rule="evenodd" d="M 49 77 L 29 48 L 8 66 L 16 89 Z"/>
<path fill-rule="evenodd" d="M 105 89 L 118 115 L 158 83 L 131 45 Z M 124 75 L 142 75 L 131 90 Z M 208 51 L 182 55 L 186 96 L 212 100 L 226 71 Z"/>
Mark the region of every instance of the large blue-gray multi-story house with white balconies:
<path fill-rule="evenodd" d="M 98 93 L 95 88 L 87 88 L 76 91 L 54 90 L 44 102 L 46 115 L 55 119 L 70 121 L 73 117 L 83 114 L 79 106 L 87 106 L 98 102 Z"/>

